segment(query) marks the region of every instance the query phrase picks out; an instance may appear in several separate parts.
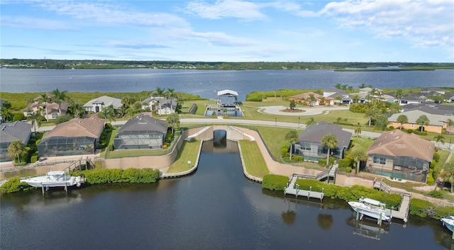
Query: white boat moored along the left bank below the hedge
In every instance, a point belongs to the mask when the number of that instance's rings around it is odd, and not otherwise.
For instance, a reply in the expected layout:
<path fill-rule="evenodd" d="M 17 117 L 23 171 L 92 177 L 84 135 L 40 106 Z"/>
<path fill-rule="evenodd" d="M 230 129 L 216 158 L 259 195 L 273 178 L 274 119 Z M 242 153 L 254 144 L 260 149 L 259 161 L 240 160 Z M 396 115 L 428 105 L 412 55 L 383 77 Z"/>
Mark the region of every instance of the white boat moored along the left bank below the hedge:
<path fill-rule="evenodd" d="M 49 171 L 45 176 L 21 178 L 21 182 L 37 188 L 69 187 L 74 185 L 80 186 L 81 178 L 80 176 L 67 175 L 65 171 Z"/>

